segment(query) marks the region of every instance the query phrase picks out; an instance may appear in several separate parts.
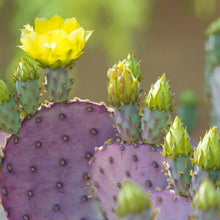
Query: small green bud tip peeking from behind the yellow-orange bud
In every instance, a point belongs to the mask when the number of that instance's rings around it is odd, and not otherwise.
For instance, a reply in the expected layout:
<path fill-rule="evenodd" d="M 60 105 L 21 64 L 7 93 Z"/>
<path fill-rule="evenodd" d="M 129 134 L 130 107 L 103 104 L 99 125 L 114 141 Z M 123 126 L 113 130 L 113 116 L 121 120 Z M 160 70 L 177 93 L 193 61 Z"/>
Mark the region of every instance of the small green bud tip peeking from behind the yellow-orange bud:
<path fill-rule="evenodd" d="M 142 78 L 140 62 L 137 61 L 133 53 L 129 53 L 122 62 L 124 62 L 128 69 L 130 69 L 135 78 L 138 77 L 139 80 Z"/>

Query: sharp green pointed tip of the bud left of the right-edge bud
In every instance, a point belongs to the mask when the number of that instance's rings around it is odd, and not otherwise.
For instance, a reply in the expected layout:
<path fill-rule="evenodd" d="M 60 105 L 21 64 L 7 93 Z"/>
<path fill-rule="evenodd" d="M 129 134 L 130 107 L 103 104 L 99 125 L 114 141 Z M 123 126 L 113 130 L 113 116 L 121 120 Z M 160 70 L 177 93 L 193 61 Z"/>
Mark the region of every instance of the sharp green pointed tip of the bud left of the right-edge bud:
<path fill-rule="evenodd" d="M 188 156 L 191 152 L 192 146 L 188 132 L 183 128 L 181 120 L 176 117 L 164 139 L 163 156 L 175 158 L 178 156 Z"/>

